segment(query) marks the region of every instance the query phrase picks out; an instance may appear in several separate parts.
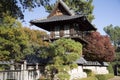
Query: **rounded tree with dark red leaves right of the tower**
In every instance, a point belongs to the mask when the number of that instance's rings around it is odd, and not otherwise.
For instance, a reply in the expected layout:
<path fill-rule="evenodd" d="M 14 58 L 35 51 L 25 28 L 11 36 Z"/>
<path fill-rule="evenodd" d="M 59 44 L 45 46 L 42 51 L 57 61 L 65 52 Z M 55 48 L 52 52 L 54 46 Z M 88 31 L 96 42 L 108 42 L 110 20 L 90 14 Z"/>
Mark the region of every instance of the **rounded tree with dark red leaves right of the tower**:
<path fill-rule="evenodd" d="M 85 59 L 92 61 L 112 61 L 115 51 L 108 36 L 102 36 L 99 32 L 91 32 L 85 36 L 88 45 L 84 48 Z"/>

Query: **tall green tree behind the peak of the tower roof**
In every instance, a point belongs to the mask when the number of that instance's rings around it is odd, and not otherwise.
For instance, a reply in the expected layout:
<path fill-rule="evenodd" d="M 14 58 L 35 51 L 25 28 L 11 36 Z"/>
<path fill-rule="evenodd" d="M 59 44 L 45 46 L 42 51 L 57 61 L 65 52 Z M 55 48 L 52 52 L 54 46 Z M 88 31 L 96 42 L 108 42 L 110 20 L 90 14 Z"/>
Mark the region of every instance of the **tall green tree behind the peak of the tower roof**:
<path fill-rule="evenodd" d="M 93 0 L 63 0 L 69 7 L 70 9 L 73 9 L 76 14 L 83 14 L 87 16 L 88 20 L 92 22 L 94 19 L 93 9 L 94 6 L 92 5 Z M 55 4 L 47 5 L 46 9 L 47 12 L 51 12 L 53 9 L 53 6 Z"/>

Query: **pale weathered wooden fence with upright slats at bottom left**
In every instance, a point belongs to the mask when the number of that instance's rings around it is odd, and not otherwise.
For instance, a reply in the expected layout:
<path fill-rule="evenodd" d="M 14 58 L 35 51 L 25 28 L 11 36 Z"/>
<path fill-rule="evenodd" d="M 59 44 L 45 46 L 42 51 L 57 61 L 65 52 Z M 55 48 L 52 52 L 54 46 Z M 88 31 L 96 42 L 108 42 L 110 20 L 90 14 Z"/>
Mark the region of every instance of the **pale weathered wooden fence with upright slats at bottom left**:
<path fill-rule="evenodd" d="M 0 71 L 0 80 L 37 80 L 39 77 L 39 70 Z"/>

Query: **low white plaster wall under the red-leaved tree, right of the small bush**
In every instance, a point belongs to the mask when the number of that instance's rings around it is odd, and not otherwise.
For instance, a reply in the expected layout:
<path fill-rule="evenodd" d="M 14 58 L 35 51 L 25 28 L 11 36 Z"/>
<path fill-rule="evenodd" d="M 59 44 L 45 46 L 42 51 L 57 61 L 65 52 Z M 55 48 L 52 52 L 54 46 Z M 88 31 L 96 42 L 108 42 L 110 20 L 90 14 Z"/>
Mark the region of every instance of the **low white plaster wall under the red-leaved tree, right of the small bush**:
<path fill-rule="evenodd" d="M 95 74 L 108 74 L 107 67 L 100 66 L 84 66 L 83 69 L 90 69 Z"/>

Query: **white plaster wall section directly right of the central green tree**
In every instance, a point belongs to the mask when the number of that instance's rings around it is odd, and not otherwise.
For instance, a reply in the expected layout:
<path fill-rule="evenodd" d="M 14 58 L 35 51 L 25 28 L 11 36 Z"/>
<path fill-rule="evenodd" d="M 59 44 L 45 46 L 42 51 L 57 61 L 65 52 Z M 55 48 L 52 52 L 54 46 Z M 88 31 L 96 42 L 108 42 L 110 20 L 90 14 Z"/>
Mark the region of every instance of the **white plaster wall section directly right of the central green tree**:
<path fill-rule="evenodd" d="M 78 79 L 78 78 L 86 78 L 87 74 L 83 72 L 82 66 L 78 66 L 78 68 L 74 68 L 71 71 L 69 71 L 70 74 L 70 80 Z"/>

